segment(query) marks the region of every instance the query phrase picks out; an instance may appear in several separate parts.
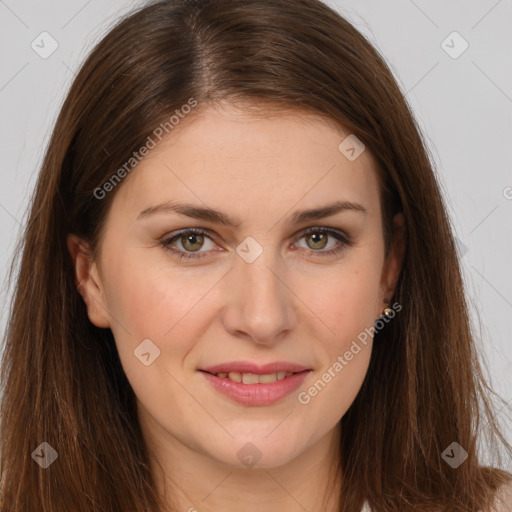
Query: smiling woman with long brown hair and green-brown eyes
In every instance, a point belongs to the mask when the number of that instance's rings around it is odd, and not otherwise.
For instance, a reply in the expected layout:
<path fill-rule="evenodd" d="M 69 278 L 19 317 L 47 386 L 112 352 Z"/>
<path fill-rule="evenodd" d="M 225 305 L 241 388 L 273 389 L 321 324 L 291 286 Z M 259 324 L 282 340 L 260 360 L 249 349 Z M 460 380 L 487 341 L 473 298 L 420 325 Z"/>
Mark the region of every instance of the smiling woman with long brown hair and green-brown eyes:
<path fill-rule="evenodd" d="M 318 0 L 122 20 L 20 253 L 2 511 L 510 510 L 418 127 Z"/>

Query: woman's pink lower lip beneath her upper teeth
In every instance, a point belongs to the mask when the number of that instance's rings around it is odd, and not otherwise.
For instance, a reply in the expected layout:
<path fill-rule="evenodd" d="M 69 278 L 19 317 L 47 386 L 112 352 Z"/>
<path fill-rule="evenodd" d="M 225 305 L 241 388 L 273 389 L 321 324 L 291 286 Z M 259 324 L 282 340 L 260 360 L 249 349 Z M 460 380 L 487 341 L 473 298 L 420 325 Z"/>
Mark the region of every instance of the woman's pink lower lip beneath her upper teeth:
<path fill-rule="evenodd" d="M 270 405 L 293 393 L 304 382 L 310 370 L 294 373 L 272 384 L 243 384 L 201 372 L 214 389 L 244 405 Z"/>

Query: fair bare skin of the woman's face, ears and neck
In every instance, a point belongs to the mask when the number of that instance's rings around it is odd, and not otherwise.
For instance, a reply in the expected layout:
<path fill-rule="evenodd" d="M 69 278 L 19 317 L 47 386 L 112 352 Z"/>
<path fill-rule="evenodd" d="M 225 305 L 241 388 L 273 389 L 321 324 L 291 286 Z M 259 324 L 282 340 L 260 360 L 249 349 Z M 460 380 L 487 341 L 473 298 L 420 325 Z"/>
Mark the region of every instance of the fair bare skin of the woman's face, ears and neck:
<path fill-rule="evenodd" d="M 375 161 L 369 151 L 349 161 L 338 150 L 347 135 L 304 113 L 270 117 L 231 105 L 204 108 L 116 190 L 96 260 L 84 241 L 68 237 L 89 319 L 112 330 L 137 397 L 159 490 L 167 484 L 177 495 L 169 510 L 229 512 L 243 504 L 249 512 L 325 511 L 335 505 L 339 487 L 326 482 L 338 453 L 339 421 L 366 375 L 371 338 L 307 405 L 297 395 L 388 305 L 404 226 L 397 215 L 385 258 Z M 341 199 L 367 213 L 290 222 L 296 210 Z M 175 213 L 137 220 L 169 200 L 208 206 L 241 223 L 230 228 Z M 340 242 L 329 235 L 322 245 L 314 234 L 301 235 L 310 227 L 340 230 L 353 245 L 319 255 Z M 186 237 L 172 242 L 204 258 L 180 260 L 159 245 L 186 228 L 214 234 L 188 245 Z M 249 236 L 263 249 L 252 263 L 236 253 Z M 149 366 L 134 356 L 144 339 L 161 351 Z M 233 360 L 289 361 L 312 372 L 279 402 L 247 406 L 219 394 L 198 371 Z M 261 453 L 252 467 L 237 457 L 248 442 Z"/>

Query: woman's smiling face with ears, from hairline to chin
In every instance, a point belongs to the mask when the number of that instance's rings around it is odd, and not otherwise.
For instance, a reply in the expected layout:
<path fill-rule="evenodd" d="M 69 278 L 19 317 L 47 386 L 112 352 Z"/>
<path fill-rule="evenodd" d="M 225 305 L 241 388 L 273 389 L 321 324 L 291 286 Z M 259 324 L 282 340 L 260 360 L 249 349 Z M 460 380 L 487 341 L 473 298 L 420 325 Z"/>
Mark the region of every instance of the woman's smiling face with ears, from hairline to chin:
<path fill-rule="evenodd" d="M 385 258 L 375 162 L 349 160 L 347 135 L 302 113 L 209 107 L 119 185 L 96 261 L 69 237 L 89 318 L 112 330 L 162 446 L 277 467 L 332 435 L 356 397 L 361 334 L 400 258 Z"/>

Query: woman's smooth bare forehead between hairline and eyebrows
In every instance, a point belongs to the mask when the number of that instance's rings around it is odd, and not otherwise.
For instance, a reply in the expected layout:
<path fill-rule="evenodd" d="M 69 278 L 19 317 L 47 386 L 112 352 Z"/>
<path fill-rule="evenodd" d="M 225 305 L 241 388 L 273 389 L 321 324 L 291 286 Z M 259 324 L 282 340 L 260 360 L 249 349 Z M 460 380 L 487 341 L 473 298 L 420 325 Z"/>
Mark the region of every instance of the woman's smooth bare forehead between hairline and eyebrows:
<path fill-rule="evenodd" d="M 375 161 L 369 151 L 350 161 L 340 151 L 349 135 L 308 112 L 207 107 L 150 151 L 114 203 L 139 213 L 186 199 L 241 216 L 268 214 L 263 206 L 270 204 L 287 209 L 350 200 L 378 207 Z"/>

